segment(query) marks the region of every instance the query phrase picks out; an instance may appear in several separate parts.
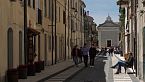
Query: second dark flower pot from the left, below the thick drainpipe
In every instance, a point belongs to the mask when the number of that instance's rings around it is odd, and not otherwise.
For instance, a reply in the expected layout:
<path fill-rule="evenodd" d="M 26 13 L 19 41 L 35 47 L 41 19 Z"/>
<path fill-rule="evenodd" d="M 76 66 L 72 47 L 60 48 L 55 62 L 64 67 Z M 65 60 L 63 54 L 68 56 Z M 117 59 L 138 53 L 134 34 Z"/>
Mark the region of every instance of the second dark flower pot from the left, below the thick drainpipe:
<path fill-rule="evenodd" d="M 19 65 L 18 75 L 19 79 L 27 79 L 27 65 Z"/>

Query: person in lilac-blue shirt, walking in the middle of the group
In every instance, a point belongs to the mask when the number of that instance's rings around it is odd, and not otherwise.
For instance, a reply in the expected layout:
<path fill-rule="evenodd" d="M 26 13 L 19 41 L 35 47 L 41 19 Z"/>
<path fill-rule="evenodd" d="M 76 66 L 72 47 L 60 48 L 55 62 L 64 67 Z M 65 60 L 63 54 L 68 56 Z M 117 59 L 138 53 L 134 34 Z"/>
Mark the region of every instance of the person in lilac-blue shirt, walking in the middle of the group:
<path fill-rule="evenodd" d="M 85 67 L 88 67 L 88 53 L 89 53 L 89 48 L 87 47 L 86 44 L 84 44 L 84 47 L 81 49 L 81 51 L 82 51 L 82 56 L 83 56 L 83 59 L 84 59 Z"/>

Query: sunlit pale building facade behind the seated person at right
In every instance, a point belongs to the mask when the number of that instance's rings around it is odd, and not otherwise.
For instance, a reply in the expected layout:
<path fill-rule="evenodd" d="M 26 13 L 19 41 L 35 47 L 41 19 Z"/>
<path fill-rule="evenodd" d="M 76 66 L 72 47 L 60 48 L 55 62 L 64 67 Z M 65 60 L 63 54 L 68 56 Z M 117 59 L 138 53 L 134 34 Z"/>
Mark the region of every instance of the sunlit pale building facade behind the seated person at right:
<path fill-rule="evenodd" d="M 144 18 L 145 1 L 141 0 L 118 0 L 120 6 L 122 28 L 122 45 L 124 53 L 131 51 L 134 55 L 135 74 L 141 82 L 145 81 L 144 64 Z M 122 13 L 124 15 L 122 15 Z"/>

